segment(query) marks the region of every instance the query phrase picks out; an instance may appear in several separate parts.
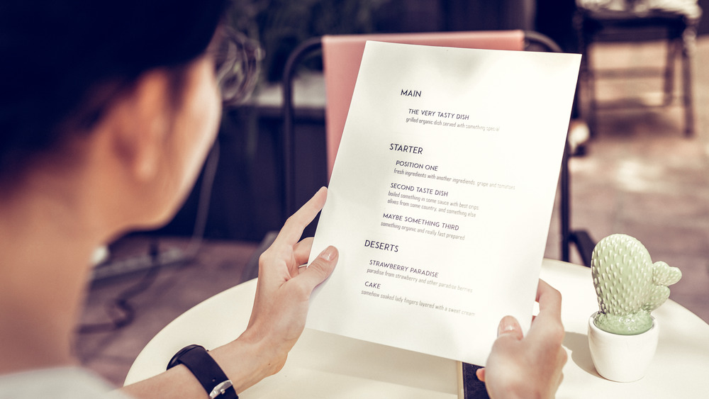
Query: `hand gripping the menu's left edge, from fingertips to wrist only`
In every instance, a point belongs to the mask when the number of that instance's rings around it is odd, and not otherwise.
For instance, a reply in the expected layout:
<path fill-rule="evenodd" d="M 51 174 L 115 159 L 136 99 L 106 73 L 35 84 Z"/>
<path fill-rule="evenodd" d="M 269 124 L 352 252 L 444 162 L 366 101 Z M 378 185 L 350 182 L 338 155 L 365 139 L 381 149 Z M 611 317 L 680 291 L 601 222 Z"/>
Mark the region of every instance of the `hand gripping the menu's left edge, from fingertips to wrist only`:
<path fill-rule="evenodd" d="M 271 356 L 269 372 L 276 373 L 300 337 L 308 314 L 311 292 L 330 276 L 337 249 L 328 247 L 305 267 L 312 238 L 298 242 L 303 229 L 325 205 L 327 189 L 320 189 L 286 220 L 273 244 L 259 258 L 259 281 L 249 327 L 240 339 L 265 344 Z"/>

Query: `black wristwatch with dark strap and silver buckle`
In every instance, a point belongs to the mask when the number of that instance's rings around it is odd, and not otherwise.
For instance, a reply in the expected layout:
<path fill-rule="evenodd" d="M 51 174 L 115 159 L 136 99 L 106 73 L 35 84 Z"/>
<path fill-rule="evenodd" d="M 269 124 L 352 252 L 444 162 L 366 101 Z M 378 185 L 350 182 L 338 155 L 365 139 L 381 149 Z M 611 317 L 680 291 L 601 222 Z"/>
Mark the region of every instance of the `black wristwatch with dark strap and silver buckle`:
<path fill-rule="evenodd" d="M 199 345 L 188 345 L 180 349 L 167 364 L 167 369 L 184 364 L 197 378 L 211 399 L 239 399 L 236 390 L 224 371 L 217 364 L 207 349 Z"/>

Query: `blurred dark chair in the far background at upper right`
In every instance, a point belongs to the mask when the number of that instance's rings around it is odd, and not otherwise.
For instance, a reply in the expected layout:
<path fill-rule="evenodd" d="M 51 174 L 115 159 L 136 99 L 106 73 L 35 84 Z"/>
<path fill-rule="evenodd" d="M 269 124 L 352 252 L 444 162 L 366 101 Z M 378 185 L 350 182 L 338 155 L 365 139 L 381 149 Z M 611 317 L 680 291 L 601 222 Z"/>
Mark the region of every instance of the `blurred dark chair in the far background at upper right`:
<path fill-rule="evenodd" d="M 679 59 L 682 67 L 681 105 L 684 108 L 684 133 L 695 133 L 692 103 L 691 61 L 696 30 L 701 9 L 696 0 L 576 0 L 577 12 L 574 25 L 579 35 L 581 60 L 580 81 L 586 89 L 588 120 L 591 135 L 596 133 L 597 111 L 596 80 L 601 71 L 594 71 L 589 47 L 601 42 L 640 42 L 666 40 L 666 63 L 664 72 L 655 74 L 664 77 L 662 101 L 654 106 L 669 106 L 674 100 L 675 64 Z M 618 77 L 647 77 L 647 68 L 635 68 Z M 657 71 L 656 71 L 657 72 Z M 609 76 L 610 77 L 610 76 Z M 613 103 L 613 108 L 647 106 Z M 653 106 L 653 105 L 651 105 Z"/>

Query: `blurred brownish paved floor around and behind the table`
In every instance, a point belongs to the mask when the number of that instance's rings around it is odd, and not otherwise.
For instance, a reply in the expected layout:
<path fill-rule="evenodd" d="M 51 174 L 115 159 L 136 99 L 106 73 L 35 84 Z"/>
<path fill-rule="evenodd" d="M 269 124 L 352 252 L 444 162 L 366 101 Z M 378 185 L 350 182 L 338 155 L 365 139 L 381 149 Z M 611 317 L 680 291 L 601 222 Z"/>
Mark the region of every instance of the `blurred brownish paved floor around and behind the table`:
<path fill-rule="evenodd" d="M 615 67 L 664 60 L 658 45 L 604 45 L 596 51 L 598 62 Z M 709 322 L 709 70 L 703 67 L 708 62 L 709 38 L 703 38 L 695 62 L 695 137 L 683 137 L 679 107 L 604 111 L 588 154 L 571 159 L 570 168 L 572 226 L 586 229 L 595 240 L 616 232 L 637 237 L 653 260 L 683 271 L 683 279 L 671 287 L 671 298 Z M 599 95 L 615 99 L 647 92 L 650 98 L 657 97 L 659 87 L 647 80 L 620 79 L 602 84 Z M 554 213 L 547 257 L 559 258 L 558 231 Z M 186 244 L 162 240 L 163 247 L 185 249 Z M 152 285 L 130 300 L 133 322 L 115 331 L 79 335 L 79 358 L 113 383 L 123 383 L 150 337 L 184 310 L 239 283 L 256 248 L 255 243 L 207 242 L 194 262 L 164 267 Z M 135 237 L 119 242 L 114 250 L 117 257 L 147 253 L 145 240 Z M 576 254 L 572 260 L 581 263 Z M 106 313 L 106 303 L 141 278 L 96 284 L 82 322 L 108 320 L 112 313 Z"/>

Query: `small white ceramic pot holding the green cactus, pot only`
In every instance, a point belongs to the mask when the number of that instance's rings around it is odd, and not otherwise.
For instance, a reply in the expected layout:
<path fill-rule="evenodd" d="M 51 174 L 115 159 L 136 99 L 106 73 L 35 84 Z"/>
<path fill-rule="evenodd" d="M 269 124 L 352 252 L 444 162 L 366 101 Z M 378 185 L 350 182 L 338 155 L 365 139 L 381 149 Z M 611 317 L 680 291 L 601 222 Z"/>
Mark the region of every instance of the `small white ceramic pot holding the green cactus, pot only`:
<path fill-rule="evenodd" d="M 623 383 L 642 378 L 657 349 L 657 320 L 652 317 L 652 327 L 642 334 L 620 335 L 596 327 L 595 315 L 588 318 L 588 347 L 596 371 L 604 378 Z"/>

